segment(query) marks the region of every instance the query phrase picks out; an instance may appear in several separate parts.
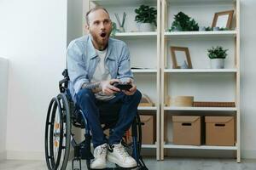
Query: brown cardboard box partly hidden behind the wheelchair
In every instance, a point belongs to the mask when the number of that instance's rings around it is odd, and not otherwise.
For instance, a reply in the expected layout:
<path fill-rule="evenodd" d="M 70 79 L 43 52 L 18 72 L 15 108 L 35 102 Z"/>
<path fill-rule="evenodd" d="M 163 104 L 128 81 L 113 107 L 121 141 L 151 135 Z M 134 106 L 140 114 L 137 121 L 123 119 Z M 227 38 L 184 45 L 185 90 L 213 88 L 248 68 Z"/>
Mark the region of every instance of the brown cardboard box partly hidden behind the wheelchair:
<path fill-rule="evenodd" d="M 142 126 L 143 133 L 143 144 L 154 144 L 156 137 L 156 128 L 155 128 L 155 116 L 154 115 L 141 115 L 141 122 L 145 123 Z"/>

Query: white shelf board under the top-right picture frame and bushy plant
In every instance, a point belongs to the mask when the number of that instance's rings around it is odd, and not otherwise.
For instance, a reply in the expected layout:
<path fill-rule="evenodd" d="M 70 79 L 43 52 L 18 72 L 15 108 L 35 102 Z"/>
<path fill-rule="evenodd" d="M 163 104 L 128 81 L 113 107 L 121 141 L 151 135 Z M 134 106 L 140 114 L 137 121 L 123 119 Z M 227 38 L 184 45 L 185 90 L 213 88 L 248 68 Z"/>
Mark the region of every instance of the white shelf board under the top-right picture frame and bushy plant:
<path fill-rule="evenodd" d="M 166 38 L 174 37 L 236 37 L 237 31 L 166 31 Z"/>

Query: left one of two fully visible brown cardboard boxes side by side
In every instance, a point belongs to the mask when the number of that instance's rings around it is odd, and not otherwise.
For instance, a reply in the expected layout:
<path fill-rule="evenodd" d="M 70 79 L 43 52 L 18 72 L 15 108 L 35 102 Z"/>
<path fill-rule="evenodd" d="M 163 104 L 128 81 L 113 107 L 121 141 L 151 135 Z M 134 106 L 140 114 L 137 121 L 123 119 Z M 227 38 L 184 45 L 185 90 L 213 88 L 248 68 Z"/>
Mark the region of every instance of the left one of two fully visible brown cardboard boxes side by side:
<path fill-rule="evenodd" d="M 172 116 L 173 143 L 201 145 L 201 116 Z"/>

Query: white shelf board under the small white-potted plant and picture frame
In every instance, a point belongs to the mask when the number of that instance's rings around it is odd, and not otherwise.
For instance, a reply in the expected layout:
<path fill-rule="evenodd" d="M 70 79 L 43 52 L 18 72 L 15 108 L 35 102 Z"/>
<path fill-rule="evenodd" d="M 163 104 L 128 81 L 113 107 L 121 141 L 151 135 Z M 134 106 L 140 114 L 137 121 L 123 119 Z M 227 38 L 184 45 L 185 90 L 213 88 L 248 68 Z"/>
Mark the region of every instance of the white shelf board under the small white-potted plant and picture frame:
<path fill-rule="evenodd" d="M 166 73 L 236 73 L 236 69 L 165 69 Z"/>

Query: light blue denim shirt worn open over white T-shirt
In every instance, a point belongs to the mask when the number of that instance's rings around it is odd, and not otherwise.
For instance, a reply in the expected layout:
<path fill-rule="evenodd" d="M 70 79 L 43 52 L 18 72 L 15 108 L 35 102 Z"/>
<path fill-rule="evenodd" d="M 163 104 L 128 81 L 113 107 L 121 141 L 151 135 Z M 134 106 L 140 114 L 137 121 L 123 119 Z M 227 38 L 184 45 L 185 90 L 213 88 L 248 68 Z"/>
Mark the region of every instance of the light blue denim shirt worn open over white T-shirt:
<path fill-rule="evenodd" d="M 79 37 L 67 47 L 67 71 L 70 78 L 68 88 L 73 96 L 78 94 L 83 83 L 90 82 L 100 61 L 92 44 L 90 35 Z M 109 38 L 108 52 L 105 58 L 111 78 L 121 82 L 133 79 L 130 65 L 130 53 L 125 42 Z"/>

